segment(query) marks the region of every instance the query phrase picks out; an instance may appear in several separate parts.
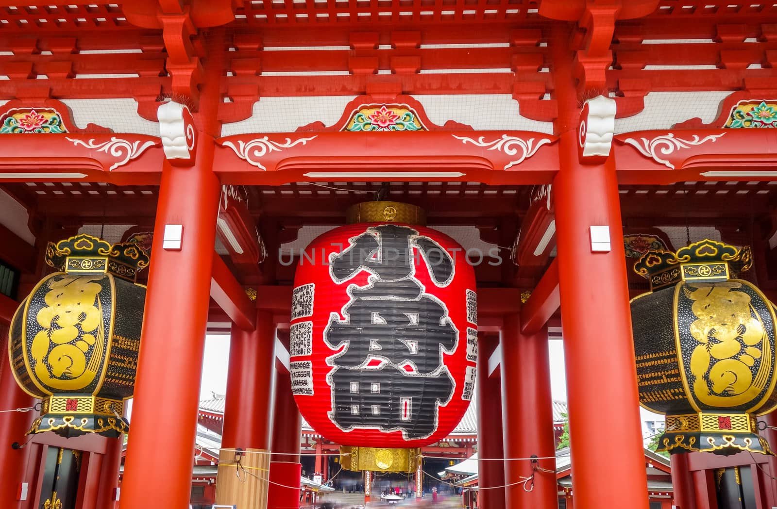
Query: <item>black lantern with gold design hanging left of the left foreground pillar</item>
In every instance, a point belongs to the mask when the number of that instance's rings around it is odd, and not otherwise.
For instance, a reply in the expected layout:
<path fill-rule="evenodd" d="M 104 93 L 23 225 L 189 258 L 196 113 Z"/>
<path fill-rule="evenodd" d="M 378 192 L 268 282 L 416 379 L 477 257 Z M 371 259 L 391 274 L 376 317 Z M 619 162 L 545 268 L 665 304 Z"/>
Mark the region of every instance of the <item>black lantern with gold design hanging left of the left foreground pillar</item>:
<path fill-rule="evenodd" d="M 55 272 L 16 310 L 9 358 L 22 389 L 42 400 L 28 434 L 118 437 L 138 364 L 145 286 L 135 284 L 148 255 L 137 244 L 80 234 L 49 243 Z"/>

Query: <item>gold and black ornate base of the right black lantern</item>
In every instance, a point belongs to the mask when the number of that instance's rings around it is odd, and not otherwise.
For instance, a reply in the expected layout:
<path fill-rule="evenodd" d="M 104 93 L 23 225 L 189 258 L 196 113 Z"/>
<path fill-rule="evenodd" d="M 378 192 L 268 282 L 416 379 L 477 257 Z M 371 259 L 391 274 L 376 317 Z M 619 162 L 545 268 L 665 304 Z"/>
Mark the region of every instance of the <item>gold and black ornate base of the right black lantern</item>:
<path fill-rule="evenodd" d="M 658 440 L 657 452 L 714 452 L 720 455 L 740 451 L 772 455 L 768 442 L 758 435 L 755 417 L 744 413 L 667 415 L 666 431 Z"/>

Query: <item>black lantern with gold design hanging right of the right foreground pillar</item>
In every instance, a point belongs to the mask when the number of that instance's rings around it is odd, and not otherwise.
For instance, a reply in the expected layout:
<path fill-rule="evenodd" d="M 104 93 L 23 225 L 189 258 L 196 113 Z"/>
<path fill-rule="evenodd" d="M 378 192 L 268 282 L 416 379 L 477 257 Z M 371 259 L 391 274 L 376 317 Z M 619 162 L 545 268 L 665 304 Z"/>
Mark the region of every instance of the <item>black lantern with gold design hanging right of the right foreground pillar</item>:
<path fill-rule="evenodd" d="M 732 274 L 749 248 L 704 240 L 648 251 L 634 270 L 650 293 L 631 302 L 639 401 L 665 414 L 658 451 L 770 454 L 756 414 L 777 405 L 775 308 Z"/>

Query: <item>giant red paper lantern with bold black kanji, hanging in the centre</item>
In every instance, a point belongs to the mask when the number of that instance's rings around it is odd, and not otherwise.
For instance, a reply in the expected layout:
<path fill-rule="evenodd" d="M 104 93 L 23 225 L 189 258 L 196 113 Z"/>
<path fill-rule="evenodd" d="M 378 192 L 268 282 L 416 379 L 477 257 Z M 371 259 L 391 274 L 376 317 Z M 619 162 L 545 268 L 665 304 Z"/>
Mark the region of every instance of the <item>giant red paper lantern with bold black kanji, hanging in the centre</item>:
<path fill-rule="evenodd" d="M 361 221 L 317 237 L 297 267 L 294 398 L 340 445 L 429 445 L 472 400 L 474 270 L 451 237 L 407 224 L 423 222 L 416 207 L 372 202 L 349 215 Z"/>

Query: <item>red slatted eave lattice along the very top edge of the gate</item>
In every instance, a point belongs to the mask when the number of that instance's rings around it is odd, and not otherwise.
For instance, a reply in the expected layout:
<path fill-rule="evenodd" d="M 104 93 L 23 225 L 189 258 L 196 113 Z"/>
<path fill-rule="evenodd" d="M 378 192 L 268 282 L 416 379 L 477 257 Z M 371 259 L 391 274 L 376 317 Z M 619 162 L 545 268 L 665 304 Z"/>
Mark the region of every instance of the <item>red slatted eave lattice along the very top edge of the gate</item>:
<path fill-rule="evenodd" d="M 121 5 L 104 0 L 53 0 L 41 5 L 0 2 L 2 31 L 67 31 L 133 28 Z M 13 2 L 17 3 L 17 2 Z M 232 26 L 368 26 L 381 23 L 542 23 L 538 0 L 246 0 Z M 765 16 L 770 3 L 661 0 L 650 18 Z"/>

